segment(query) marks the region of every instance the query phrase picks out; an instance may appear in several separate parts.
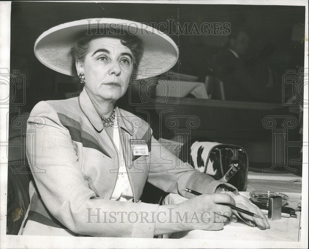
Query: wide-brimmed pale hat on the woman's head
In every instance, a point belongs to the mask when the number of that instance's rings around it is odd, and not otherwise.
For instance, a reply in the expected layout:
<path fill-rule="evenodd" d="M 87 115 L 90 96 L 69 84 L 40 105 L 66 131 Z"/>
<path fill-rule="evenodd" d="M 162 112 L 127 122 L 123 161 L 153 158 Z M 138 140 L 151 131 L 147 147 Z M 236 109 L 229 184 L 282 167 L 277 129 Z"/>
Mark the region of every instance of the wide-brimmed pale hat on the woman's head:
<path fill-rule="evenodd" d="M 76 39 L 86 34 L 100 34 L 106 28 L 117 29 L 138 36 L 144 52 L 138 65 L 136 78 L 159 75 L 173 67 L 178 60 L 175 42 L 163 32 L 123 19 L 94 18 L 63 23 L 52 27 L 39 36 L 34 45 L 38 60 L 47 67 L 67 75 L 76 75 L 72 70 L 73 59 L 68 56 Z"/>

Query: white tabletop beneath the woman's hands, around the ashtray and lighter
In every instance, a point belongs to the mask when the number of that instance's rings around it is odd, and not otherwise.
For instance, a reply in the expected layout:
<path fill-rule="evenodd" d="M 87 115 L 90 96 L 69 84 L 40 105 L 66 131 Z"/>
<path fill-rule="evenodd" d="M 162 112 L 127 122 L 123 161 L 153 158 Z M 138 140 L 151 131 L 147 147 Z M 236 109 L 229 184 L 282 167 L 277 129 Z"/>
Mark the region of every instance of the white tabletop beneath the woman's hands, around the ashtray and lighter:
<path fill-rule="evenodd" d="M 241 195 L 248 197 L 249 192 L 239 192 Z M 285 193 L 289 196 L 289 207 L 296 208 L 297 204 L 301 202 L 300 193 Z M 177 204 L 186 198 L 177 195 L 169 194 L 164 199 L 164 204 Z M 163 238 L 203 238 L 216 240 L 255 240 L 255 241 L 300 241 L 300 214 L 296 212 L 297 218 L 284 218 L 277 221 L 268 221 L 270 229 L 260 230 L 257 227 L 251 227 L 242 221 L 234 223 L 230 222 L 224 226 L 223 230 L 206 231 L 206 230 L 192 230 L 177 232 L 172 234 L 164 234 Z"/>

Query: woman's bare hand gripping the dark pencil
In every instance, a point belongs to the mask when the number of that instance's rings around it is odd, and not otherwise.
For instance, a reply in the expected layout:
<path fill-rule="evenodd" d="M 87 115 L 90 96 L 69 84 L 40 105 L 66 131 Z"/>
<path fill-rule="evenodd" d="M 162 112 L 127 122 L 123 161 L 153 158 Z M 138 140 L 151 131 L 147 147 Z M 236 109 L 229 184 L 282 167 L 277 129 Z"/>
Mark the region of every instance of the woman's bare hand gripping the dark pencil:
<path fill-rule="evenodd" d="M 194 229 L 221 230 L 224 223 L 237 221 L 232 209 L 222 204 L 235 205 L 235 201 L 228 194 L 203 194 L 179 204 L 159 206 L 158 214 L 168 214 L 166 220 L 169 222 L 163 224 L 164 222 L 157 221 L 155 234 Z"/>

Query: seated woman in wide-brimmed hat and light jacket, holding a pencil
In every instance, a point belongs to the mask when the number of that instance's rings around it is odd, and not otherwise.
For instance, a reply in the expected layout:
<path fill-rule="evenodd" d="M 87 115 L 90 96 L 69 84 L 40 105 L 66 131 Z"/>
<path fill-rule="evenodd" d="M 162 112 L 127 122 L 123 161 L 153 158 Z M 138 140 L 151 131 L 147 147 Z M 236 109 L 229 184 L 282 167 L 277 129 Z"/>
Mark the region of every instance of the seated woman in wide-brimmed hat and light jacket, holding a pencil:
<path fill-rule="evenodd" d="M 117 108 L 131 77 L 155 76 L 176 64 L 178 49 L 168 36 L 127 20 L 88 19 L 49 29 L 34 50 L 44 65 L 76 75 L 84 87 L 79 97 L 39 102 L 30 114 L 27 157 L 34 181 L 19 234 L 153 238 L 218 230 L 229 217 L 236 221 L 230 207 L 218 203 L 236 202 L 262 215 L 232 185 L 186 163 L 175 167 L 175 155 L 151 136 L 149 125 Z M 142 203 L 146 180 L 191 199 Z M 185 188 L 210 194 L 195 197 Z M 211 194 L 224 188 L 230 195 Z M 185 212 L 189 220 L 181 223 Z M 247 218 L 269 228 L 267 221 Z"/>

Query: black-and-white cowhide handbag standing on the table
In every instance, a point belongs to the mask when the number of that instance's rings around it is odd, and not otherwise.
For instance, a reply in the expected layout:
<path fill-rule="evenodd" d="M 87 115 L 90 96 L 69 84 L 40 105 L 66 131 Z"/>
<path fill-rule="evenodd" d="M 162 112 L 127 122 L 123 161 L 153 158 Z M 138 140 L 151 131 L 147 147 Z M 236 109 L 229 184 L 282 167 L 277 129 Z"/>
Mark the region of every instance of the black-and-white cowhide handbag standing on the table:
<path fill-rule="evenodd" d="M 216 180 L 221 179 L 236 165 L 239 170 L 227 182 L 239 191 L 246 190 L 248 154 L 240 146 L 192 139 L 181 147 L 179 158 Z"/>

